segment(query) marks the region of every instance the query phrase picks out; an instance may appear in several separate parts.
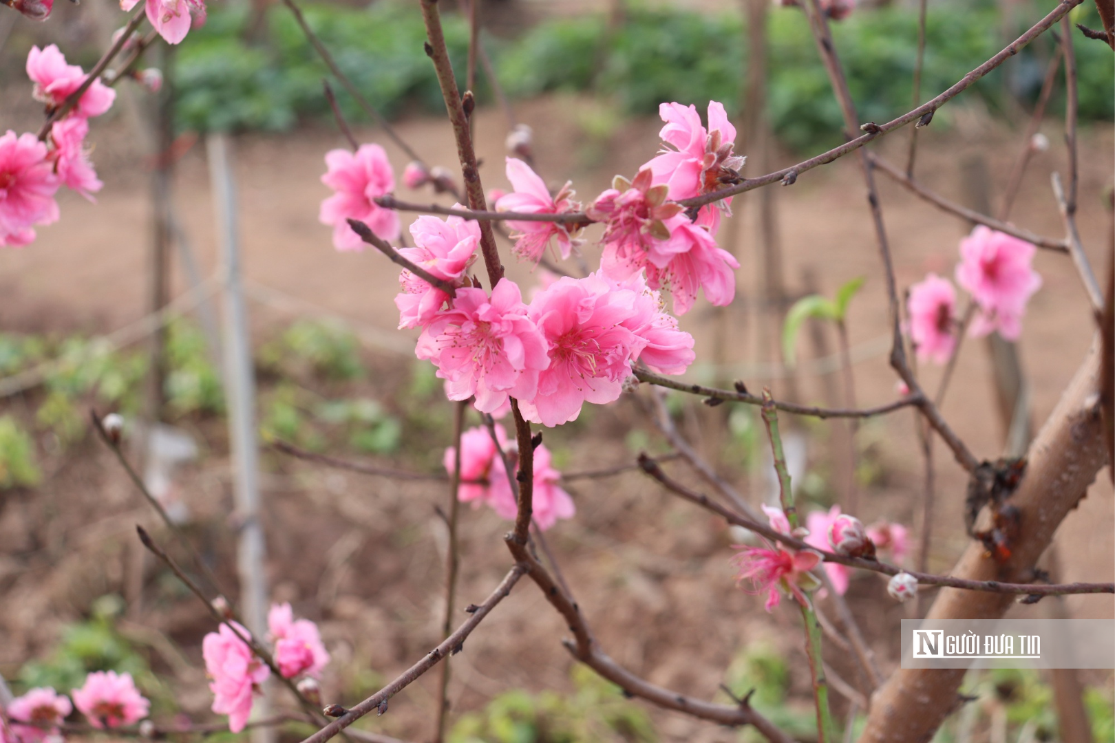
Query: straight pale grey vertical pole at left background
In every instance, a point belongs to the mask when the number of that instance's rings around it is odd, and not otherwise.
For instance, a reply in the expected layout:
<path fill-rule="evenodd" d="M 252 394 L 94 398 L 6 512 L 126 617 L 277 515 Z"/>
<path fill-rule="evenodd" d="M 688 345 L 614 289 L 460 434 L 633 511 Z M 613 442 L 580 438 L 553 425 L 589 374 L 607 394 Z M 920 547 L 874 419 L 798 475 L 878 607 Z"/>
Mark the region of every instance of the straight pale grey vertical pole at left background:
<path fill-rule="evenodd" d="M 240 574 L 241 615 L 258 638 L 266 633 L 266 576 L 263 569 L 263 525 L 260 524 L 259 441 L 255 430 L 255 384 L 252 375 L 248 311 L 241 286 L 236 195 L 229 144 L 223 134 L 205 139 L 209 153 L 213 206 L 216 215 L 224 284 L 224 387 L 229 404 L 229 439 L 232 442 L 233 493 L 240 524 L 236 569 Z M 254 718 L 268 715 L 269 691 L 254 705 Z M 271 727 L 252 730 L 253 743 L 271 743 Z"/>

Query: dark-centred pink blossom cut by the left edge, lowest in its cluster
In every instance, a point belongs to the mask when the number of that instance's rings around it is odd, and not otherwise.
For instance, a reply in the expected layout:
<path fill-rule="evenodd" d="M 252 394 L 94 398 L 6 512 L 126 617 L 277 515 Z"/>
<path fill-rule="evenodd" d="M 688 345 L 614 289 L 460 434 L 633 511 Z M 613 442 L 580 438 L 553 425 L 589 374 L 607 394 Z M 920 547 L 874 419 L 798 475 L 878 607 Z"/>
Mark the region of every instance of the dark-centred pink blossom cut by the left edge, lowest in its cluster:
<path fill-rule="evenodd" d="M 32 225 L 58 221 L 58 177 L 47 146 L 32 134 L 0 137 L 0 247 L 35 239 Z"/>

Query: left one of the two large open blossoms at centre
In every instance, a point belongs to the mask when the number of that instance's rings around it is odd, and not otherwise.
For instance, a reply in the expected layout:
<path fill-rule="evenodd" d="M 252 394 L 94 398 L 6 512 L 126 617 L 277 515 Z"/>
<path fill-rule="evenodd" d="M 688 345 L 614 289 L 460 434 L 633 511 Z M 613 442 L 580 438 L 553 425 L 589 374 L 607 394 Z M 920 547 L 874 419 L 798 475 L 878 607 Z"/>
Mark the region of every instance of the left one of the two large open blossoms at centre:
<path fill-rule="evenodd" d="M 491 297 L 482 289 L 458 289 L 453 306 L 423 331 L 415 353 L 437 366 L 450 400 L 476 395 L 482 412 L 498 410 L 508 395 L 533 398 L 539 372 L 550 365 L 545 339 L 510 278 L 501 278 Z"/>

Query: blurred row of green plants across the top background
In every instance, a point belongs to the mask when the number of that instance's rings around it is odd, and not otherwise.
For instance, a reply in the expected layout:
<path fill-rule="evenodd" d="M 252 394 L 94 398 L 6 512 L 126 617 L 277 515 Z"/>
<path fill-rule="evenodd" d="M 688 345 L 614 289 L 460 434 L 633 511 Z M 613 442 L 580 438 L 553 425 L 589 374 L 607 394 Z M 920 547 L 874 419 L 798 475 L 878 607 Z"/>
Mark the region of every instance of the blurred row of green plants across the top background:
<path fill-rule="evenodd" d="M 911 107 L 917 18 L 904 7 L 863 10 L 834 23 L 833 33 L 863 120 L 884 121 Z M 241 6 L 240 8 L 245 8 Z M 1017 11 L 1036 19 L 1046 9 L 1027 2 Z M 1095 8 L 1082 6 L 1074 20 L 1098 27 Z M 433 66 L 423 51 L 425 30 L 414 3 L 380 0 L 367 8 L 317 4 L 306 17 L 338 65 L 381 113 L 394 117 L 420 108 L 444 110 Z M 776 136 L 796 149 L 837 141 L 841 114 L 817 58 L 804 16 L 772 9 L 768 20 L 767 116 Z M 293 17 L 275 6 L 264 40 L 244 41 L 246 10 L 219 10 L 191 33 L 178 51 L 175 80 L 180 126 L 187 129 L 285 130 L 300 120 L 328 119 L 321 89 L 328 75 Z M 464 21 L 446 18 L 455 63 L 468 45 Z M 1018 32 L 1024 30 L 1019 26 Z M 745 75 L 746 33 L 738 13 L 697 13 L 632 4 L 622 23 L 603 16 L 542 22 L 517 39 L 486 37 L 501 84 L 516 97 L 547 91 L 588 91 L 626 115 L 653 115 L 662 101 L 720 100 L 737 110 Z M 1002 46 L 1002 19 L 989 0 L 943 0 L 930 6 L 922 99 L 944 90 Z M 1014 35 L 1011 36 L 1014 38 Z M 1017 111 L 1014 100 L 1037 97 L 1053 49 L 1045 35 L 1002 69 L 975 87 L 992 111 Z M 1076 39 L 1080 116 L 1115 115 L 1115 71 L 1103 43 Z M 491 100 L 481 76 L 482 100 Z M 356 101 L 339 91 L 345 115 L 366 120 Z M 1060 96 L 1055 99 L 1059 106 Z M 1011 100 L 1014 99 L 1014 100 Z M 946 111 L 947 114 L 947 111 Z M 947 124 L 941 120 L 938 125 Z"/>

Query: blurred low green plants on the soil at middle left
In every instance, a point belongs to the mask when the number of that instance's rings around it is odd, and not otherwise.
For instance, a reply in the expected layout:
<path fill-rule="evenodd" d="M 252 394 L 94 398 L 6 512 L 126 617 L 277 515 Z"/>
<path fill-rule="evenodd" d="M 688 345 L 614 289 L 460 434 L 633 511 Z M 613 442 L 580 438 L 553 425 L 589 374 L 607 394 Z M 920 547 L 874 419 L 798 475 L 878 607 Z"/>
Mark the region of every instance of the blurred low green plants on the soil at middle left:
<path fill-rule="evenodd" d="M 42 436 L 46 450 L 64 450 L 87 434 L 90 408 L 125 417 L 137 413 L 148 359 L 143 348 L 113 350 L 80 336 L 0 333 L 0 379 L 45 369 L 41 388 L 25 393 L 33 421 L 10 412 L 0 416 L 0 490 L 39 482 L 36 434 Z M 221 377 L 197 324 L 171 323 L 166 361 L 166 416 L 200 421 L 224 413 Z M 366 370 L 359 342 L 348 329 L 299 321 L 263 344 L 255 361 L 262 380 L 259 410 L 264 437 L 314 450 L 340 446 L 361 453 L 390 453 L 399 447 L 399 420 L 349 384 L 366 378 Z"/>

